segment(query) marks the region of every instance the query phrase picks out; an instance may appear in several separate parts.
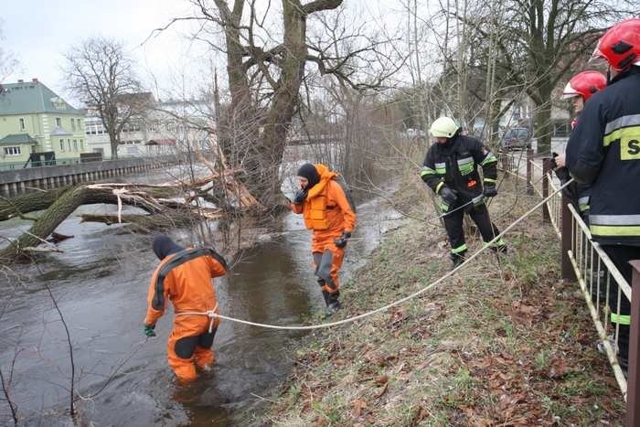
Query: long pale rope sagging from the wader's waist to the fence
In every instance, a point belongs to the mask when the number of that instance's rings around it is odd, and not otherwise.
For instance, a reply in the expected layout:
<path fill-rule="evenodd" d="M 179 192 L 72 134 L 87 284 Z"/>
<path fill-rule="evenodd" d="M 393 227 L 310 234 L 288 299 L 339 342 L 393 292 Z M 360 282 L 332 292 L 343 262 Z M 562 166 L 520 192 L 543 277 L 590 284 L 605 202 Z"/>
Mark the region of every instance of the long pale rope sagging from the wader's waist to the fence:
<path fill-rule="evenodd" d="M 502 236 L 504 236 L 507 233 L 507 231 L 512 230 L 523 219 L 526 219 L 536 209 L 540 208 L 542 205 L 547 203 L 551 197 L 554 197 L 558 192 L 560 192 L 562 190 L 562 188 L 567 187 L 569 184 L 571 184 L 571 182 L 573 182 L 573 179 L 570 179 L 567 183 L 565 183 L 563 186 L 561 186 L 556 191 L 551 193 L 548 197 L 544 198 L 542 201 L 539 202 L 538 205 L 534 206 L 533 208 L 530 208 L 525 214 L 523 214 L 518 219 L 516 219 L 514 222 L 512 222 L 505 230 L 503 230 L 501 233 L 497 234 L 496 237 L 493 240 L 486 242 L 485 246 L 483 246 L 480 250 L 475 251 L 475 253 L 473 255 L 471 255 L 468 258 L 466 258 L 466 260 L 464 260 L 464 262 L 462 264 L 460 264 L 458 267 L 453 269 L 451 272 L 447 272 L 442 277 L 437 279 L 435 282 L 432 282 L 432 283 L 428 284 L 427 286 L 423 287 L 421 290 L 416 291 L 413 294 L 407 295 L 404 298 L 401 298 L 400 300 L 397 300 L 397 301 L 394 301 L 394 302 L 389 303 L 387 305 L 383 305 L 383 306 L 381 306 L 379 308 L 376 308 L 375 310 L 368 311 L 368 312 L 363 313 L 361 315 L 355 315 L 353 317 L 348 317 L 347 319 L 338 320 L 336 322 L 329 322 L 329 323 L 325 323 L 325 324 L 309 325 L 309 326 L 304 326 L 304 325 L 300 325 L 300 326 L 269 325 L 269 324 L 261 324 L 261 323 L 257 323 L 257 322 L 250 322 L 248 320 L 237 319 L 237 318 L 234 318 L 234 317 L 229 317 L 227 315 L 218 315 L 216 313 L 213 313 L 212 315 L 215 316 L 215 317 L 218 317 L 220 319 L 229 320 L 230 322 L 240 323 L 242 325 L 258 326 L 258 327 L 263 327 L 263 328 L 267 328 L 267 329 L 279 329 L 279 330 L 289 330 L 289 331 L 300 331 L 300 330 L 308 331 L 308 330 L 314 330 L 314 329 L 322 329 L 322 328 L 325 328 L 325 327 L 345 325 L 347 323 L 352 323 L 352 322 L 356 322 L 357 320 L 364 319 L 365 317 L 368 317 L 370 315 L 375 315 L 375 314 L 380 313 L 382 311 L 388 310 L 391 307 L 394 307 L 396 305 L 400 305 L 400 304 L 402 304 L 402 303 L 404 303 L 406 301 L 409 301 L 409 300 L 411 300 L 412 298 L 415 298 L 418 295 L 424 294 L 425 292 L 429 291 L 430 289 L 432 289 L 437 284 L 442 283 L 445 279 L 453 276 L 454 273 L 458 272 L 467 263 L 469 263 L 472 260 L 474 260 L 478 255 L 480 255 L 480 253 L 482 253 L 487 248 L 489 248 L 492 243 L 495 243 L 496 240 L 498 240 Z M 207 312 L 207 313 L 194 313 L 194 314 L 197 314 L 197 315 L 205 315 L 206 314 L 206 315 L 208 315 L 208 313 L 210 313 L 210 312 Z M 188 314 L 188 313 L 180 313 L 180 314 L 184 315 L 184 314 Z"/>

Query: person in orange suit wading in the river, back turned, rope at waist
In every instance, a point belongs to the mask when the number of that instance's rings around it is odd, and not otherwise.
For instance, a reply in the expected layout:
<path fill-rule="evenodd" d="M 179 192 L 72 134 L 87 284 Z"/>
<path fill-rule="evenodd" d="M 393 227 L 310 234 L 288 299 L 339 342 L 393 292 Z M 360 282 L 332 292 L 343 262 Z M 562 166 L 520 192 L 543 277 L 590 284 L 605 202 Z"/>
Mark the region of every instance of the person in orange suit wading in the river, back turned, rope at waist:
<path fill-rule="evenodd" d="M 211 279 L 227 272 L 227 262 L 212 249 L 184 249 L 168 236 L 153 242 L 160 264 L 149 285 L 149 308 L 144 335 L 155 336 L 155 323 L 174 305 L 174 328 L 166 343 L 169 366 L 180 382 L 197 379 L 196 366 L 209 370 L 213 364 L 213 337 L 219 325 L 216 291 Z"/>

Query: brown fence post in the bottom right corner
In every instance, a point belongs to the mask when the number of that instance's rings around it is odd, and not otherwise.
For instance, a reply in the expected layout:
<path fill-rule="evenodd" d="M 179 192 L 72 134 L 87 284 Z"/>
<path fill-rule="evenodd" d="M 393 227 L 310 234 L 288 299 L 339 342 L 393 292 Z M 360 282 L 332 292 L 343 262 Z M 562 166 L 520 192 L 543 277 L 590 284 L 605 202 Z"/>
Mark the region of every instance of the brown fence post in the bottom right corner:
<path fill-rule="evenodd" d="M 629 332 L 629 370 L 626 385 L 626 425 L 640 425 L 640 381 L 638 381 L 638 355 L 640 354 L 640 260 L 629 262 L 633 269 L 631 280 L 631 331 Z"/>

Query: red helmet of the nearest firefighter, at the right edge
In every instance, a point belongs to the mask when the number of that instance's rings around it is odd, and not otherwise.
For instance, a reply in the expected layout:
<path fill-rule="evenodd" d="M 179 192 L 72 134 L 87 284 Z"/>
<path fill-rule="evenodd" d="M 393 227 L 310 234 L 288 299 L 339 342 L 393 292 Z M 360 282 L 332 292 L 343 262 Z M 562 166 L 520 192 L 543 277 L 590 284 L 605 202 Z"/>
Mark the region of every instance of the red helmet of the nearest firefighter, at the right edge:
<path fill-rule="evenodd" d="M 640 65 L 640 18 L 627 19 L 600 37 L 592 59 L 603 58 L 612 69 L 624 71 Z"/>

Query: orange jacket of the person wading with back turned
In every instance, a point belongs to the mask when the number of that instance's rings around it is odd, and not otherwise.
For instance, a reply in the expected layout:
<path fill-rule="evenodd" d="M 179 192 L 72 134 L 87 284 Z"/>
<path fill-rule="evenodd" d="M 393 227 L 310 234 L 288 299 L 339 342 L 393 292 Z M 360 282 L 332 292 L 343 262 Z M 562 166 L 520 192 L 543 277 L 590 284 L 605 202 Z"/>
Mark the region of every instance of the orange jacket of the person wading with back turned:
<path fill-rule="evenodd" d="M 144 325 L 155 325 L 155 322 L 165 313 L 169 300 L 174 305 L 176 313 L 186 311 L 204 313 L 216 307 L 216 291 L 211 279 L 224 275 L 227 272 L 225 266 L 210 255 L 197 256 L 172 268 L 166 273 L 164 282 L 159 283 L 159 273 L 175 257 L 176 254 L 167 256 L 155 268 L 149 284 L 147 297 L 149 308 L 144 318 Z"/>

